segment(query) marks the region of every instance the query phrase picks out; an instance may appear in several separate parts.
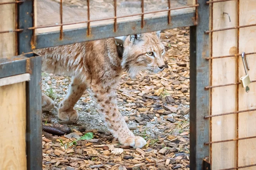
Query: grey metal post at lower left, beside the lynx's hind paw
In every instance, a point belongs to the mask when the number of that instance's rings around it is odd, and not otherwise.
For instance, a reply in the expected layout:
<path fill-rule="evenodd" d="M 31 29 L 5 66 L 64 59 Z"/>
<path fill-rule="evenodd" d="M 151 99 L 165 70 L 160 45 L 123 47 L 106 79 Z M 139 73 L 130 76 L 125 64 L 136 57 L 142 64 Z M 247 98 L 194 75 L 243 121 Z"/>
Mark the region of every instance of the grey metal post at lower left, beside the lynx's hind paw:
<path fill-rule="evenodd" d="M 27 169 L 42 170 L 41 57 L 31 57 L 27 62 L 31 69 L 30 81 L 26 82 Z"/>

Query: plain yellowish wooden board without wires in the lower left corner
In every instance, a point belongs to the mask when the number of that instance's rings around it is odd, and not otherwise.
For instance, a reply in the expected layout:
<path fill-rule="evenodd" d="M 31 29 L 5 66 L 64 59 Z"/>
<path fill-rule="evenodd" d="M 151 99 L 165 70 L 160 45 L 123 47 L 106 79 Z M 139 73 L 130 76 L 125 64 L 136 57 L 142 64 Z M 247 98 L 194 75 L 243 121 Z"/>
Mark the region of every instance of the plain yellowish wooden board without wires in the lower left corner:
<path fill-rule="evenodd" d="M 26 170 L 25 82 L 0 87 L 0 169 Z"/>

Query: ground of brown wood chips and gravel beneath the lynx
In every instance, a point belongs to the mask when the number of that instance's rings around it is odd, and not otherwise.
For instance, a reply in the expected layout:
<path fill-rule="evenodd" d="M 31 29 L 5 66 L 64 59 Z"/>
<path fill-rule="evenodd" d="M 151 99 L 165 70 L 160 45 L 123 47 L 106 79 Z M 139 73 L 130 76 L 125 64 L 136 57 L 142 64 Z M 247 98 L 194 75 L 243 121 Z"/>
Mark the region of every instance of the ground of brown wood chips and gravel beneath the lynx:
<path fill-rule="evenodd" d="M 43 132 L 43 170 L 189 170 L 189 28 L 161 37 L 168 68 L 136 81 L 124 73 L 117 89 L 126 123 L 147 140 L 142 149 L 121 146 L 112 137 L 87 92 L 75 105 L 79 120 L 60 121 L 57 107 L 71 79 L 42 73 L 42 89 L 55 99 L 55 108 L 43 112 L 43 124 L 72 129 L 62 136 Z"/>

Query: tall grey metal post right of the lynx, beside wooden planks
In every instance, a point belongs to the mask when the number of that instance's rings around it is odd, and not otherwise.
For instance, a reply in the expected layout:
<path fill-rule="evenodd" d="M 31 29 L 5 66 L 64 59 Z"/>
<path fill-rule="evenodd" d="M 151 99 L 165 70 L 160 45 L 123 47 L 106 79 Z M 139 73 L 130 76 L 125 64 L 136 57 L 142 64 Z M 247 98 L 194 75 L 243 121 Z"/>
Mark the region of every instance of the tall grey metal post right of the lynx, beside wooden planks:
<path fill-rule="evenodd" d="M 209 5 L 197 0 L 197 26 L 190 27 L 190 170 L 203 170 L 209 157 Z"/>

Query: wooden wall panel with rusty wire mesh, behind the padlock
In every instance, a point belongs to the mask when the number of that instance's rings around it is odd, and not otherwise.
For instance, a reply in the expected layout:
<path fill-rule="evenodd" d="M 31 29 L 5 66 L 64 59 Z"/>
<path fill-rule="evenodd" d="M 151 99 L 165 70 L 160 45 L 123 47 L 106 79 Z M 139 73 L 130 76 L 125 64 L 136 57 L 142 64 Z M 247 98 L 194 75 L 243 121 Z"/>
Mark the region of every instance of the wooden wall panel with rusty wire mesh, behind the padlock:
<path fill-rule="evenodd" d="M 211 7 L 210 34 L 210 162 L 213 170 L 256 169 L 256 3 L 216 0 Z M 249 92 L 240 78 L 248 75 Z M 246 59 L 244 60 L 246 62 Z"/>

